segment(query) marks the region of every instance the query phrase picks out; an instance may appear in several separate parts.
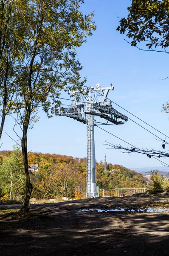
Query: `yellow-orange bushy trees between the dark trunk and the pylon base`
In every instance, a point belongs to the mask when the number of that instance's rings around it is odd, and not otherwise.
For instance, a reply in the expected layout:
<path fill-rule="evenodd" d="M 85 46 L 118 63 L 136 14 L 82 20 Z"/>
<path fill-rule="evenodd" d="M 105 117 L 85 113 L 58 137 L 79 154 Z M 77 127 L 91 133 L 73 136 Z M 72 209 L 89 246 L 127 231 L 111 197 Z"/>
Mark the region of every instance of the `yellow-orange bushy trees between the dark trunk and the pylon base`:
<path fill-rule="evenodd" d="M 53 164 L 48 169 L 41 167 L 37 173 L 31 174 L 34 186 L 34 198 L 61 197 L 74 198 L 75 190 L 80 186 L 85 192 L 85 175 L 73 164 Z"/>

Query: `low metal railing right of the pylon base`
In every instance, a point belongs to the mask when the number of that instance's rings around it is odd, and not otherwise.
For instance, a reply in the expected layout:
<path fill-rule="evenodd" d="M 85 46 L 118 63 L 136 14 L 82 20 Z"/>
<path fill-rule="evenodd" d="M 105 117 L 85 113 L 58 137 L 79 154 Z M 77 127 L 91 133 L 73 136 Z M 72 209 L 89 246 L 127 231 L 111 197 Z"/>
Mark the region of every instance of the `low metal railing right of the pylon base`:
<path fill-rule="evenodd" d="M 100 197 L 121 197 L 146 192 L 146 188 L 100 189 Z"/>

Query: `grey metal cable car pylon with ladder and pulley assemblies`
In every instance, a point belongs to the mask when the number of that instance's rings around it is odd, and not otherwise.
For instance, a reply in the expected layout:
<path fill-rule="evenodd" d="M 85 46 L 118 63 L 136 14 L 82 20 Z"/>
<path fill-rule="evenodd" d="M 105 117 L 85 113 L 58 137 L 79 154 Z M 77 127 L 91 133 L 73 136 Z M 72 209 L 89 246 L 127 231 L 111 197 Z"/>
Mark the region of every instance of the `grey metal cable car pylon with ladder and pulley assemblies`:
<path fill-rule="evenodd" d="M 94 143 L 94 126 L 99 125 L 123 125 L 127 116 L 115 110 L 112 102 L 107 101 L 107 95 L 114 86 L 101 88 L 100 84 L 94 87 L 85 87 L 83 93 L 78 90 L 69 92 L 74 99 L 70 105 L 61 105 L 52 108 L 51 113 L 56 116 L 67 116 L 79 122 L 87 124 L 87 189 L 86 196 L 98 197 L 96 186 L 96 157 Z M 99 116 L 107 122 L 97 122 Z M 121 119 L 121 120 L 119 120 Z M 122 121 L 123 120 L 123 121 Z M 110 122 L 110 123 L 109 123 Z"/>

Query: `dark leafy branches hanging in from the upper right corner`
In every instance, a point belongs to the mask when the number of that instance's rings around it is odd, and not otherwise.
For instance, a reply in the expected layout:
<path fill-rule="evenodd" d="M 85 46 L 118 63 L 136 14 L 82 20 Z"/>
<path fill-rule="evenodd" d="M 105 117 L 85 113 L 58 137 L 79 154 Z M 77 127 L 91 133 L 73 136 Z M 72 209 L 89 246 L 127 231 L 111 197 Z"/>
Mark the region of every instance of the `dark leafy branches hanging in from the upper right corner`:
<path fill-rule="evenodd" d="M 169 1 L 132 0 L 127 9 L 129 14 L 120 20 L 117 30 L 132 39 L 131 46 L 139 48 L 138 43 L 145 41 L 144 50 L 169 53 Z M 169 113 L 169 102 L 163 111 Z"/>

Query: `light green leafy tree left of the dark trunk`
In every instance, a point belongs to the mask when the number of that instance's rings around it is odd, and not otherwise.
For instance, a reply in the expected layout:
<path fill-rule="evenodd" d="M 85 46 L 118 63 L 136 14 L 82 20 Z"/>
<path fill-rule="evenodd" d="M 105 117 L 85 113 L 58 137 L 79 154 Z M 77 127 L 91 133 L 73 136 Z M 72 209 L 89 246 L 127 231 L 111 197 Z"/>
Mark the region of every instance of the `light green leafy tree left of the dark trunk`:
<path fill-rule="evenodd" d="M 16 148 L 0 166 L 1 195 L 8 200 L 22 200 L 25 189 L 23 159 L 19 148 Z"/>

